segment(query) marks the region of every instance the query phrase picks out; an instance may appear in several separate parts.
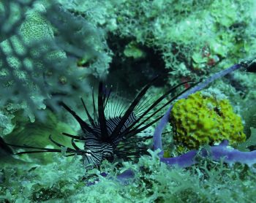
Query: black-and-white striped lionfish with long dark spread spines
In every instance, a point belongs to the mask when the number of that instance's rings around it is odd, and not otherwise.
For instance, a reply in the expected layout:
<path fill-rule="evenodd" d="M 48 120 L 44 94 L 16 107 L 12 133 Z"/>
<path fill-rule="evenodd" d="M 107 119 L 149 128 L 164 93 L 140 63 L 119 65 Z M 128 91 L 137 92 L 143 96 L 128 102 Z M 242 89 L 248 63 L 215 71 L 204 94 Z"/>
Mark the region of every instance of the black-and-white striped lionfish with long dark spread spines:
<path fill-rule="evenodd" d="M 176 91 L 176 88 L 179 86 L 193 82 L 187 81 L 180 83 L 170 88 L 169 91 L 160 97 L 143 99 L 148 89 L 154 85 L 159 77 L 154 77 L 151 82 L 145 85 L 135 99 L 127 106 L 121 104 L 120 99 L 117 99 L 116 95 L 111 94 L 111 89 L 106 93 L 102 82 L 100 82 L 97 102 L 94 98 L 94 93 L 92 93 L 92 105 L 94 109 L 92 116 L 87 110 L 85 102 L 81 99 L 89 123 L 80 118 L 67 104 L 60 102 L 59 104 L 78 121 L 82 130 L 82 134 L 79 136 L 63 133 L 64 136 L 72 138 L 71 144 L 73 148 L 67 148 L 61 145 L 59 142 L 54 141 L 51 136 L 49 136 L 50 141 L 57 145 L 59 149 L 37 148 L 28 145 L 7 145 L 15 148 L 32 149 L 16 154 L 61 153 L 64 148 L 67 154 L 66 156 L 74 156 L 75 154 L 83 156 L 86 167 L 99 166 L 105 159 L 112 162 L 115 158 L 124 161 L 131 158 L 139 158 L 147 153 L 148 148 L 143 142 L 152 138 L 149 132 L 145 132 L 146 129 L 160 120 L 165 107 L 188 89 L 181 91 L 170 99 L 165 98 L 170 93 L 173 93 L 173 91 Z M 113 101 L 112 104 L 110 104 L 110 100 Z M 144 135 L 140 136 L 140 134 Z M 83 149 L 78 148 L 76 142 L 83 142 Z"/>

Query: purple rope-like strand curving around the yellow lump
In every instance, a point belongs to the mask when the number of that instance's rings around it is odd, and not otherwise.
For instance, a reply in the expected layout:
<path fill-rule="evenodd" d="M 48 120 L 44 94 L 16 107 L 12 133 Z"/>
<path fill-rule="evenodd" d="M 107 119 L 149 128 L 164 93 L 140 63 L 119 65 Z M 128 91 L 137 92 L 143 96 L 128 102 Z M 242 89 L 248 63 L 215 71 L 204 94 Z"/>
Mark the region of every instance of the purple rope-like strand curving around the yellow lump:
<path fill-rule="evenodd" d="M 214 80 L 217 80 L 220 77 L 223 77 L 226 74 L 235 71 L 236 69 L 240 69 L 241 67 L 243 66 L 241 66 L 240 64 L 236 64 L 234 66 L 231 66 L 229 69 L 225 69 L 221 72 L 218 72 L 217 74 L 213 74 L 211 77 L 208 77 L 208 79 L 206 79 L 205 81 L 195 85 L 194 88 L 191 88 L 189 91 L 179 96 L 178 99 L 187 98 L 187 96 L 202 90 Z M 160 150 L 159 152 L 160 161 L 164 162 L 165 164 L 168 164 L 170 166 L 178 165 L 181 167 L 191 166 L 192 164 L 196 164 L 195 156 L 198 153 L 197 150 L 191 150 L 188 153 L 185 153 L 181 156 L 176 156 L 173 158 L 162 157 L 163 155 L 162 131 L 165 129 L 165 126 L 169 122 L 170 111 L 172 110 L 172 108 L 173 108 L 173 105 L 171 105 L 167 110 L 167 112 L 165 112 L 165 115 L 159 121 L 159 124 L 157 125 L 157 128 L 154 131 L 154 137 L 153 137 L 154 150 L 157 150 L 157 149 Z M 223 159 L 223 161 L 225 161 L 225 163 L 227 164 L 234 164 L 236 162 L 241 164 L 247 164 L 248 166 L 252 166 L 253 164 L 256 164 L 256 150 L 252 152 L 241 152 L 239 150 L 232 149 L 228 147 L 227 140 L 224 140 L 218 146 L 210 147 L 208 153 L 210 153 L 211 158 L 214 161 L 220 161 L 221 159 Z M 206 150 L 203 150 L 200 156 L 206 157 L 208 156 L 208 153 L 206 153 Z"/>

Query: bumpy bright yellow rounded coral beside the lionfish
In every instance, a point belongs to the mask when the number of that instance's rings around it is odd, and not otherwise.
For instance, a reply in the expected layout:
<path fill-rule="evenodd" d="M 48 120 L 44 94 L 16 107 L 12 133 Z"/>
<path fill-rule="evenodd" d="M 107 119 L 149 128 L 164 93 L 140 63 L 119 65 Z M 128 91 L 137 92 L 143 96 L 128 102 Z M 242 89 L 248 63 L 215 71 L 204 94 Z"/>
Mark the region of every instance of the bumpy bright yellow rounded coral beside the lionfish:
<path fill-rule="evenodd" d="M 241 118 L 233 112 L 227 99 L 217 99 L 200 92 L 180 99 L 173 105 L 170 120 L 175 129 L 178 148 L 196 149 L 200 145 L 213 145 L 229 140 L 244 142 L 244 126 Z"/>

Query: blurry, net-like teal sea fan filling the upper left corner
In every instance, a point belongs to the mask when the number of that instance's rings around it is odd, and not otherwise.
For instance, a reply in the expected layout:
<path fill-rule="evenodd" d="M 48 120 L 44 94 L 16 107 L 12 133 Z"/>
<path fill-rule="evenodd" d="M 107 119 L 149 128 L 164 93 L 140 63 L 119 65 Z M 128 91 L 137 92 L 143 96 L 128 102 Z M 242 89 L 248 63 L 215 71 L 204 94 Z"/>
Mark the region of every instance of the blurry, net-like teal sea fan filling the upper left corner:
<path fill-rule="evenodd" d="M 59 4 L 27 2 L 0 4 L 0 104 L 8 110 L 26 109 L 34 120 L 45 105 L 59 109 L 56 103 L 63 96 L 88 92 L 86 75 L 107 74 L 110 52 L 102 31 L 85 19 Z M 81 58 L 86 58 L 82 68 Z"/>

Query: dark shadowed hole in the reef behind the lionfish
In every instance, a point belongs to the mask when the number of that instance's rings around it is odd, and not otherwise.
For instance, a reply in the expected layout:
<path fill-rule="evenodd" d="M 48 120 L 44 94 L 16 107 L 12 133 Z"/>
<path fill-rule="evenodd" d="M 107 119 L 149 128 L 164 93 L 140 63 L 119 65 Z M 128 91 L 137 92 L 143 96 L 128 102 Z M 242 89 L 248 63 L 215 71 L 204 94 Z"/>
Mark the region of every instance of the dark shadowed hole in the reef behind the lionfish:
<path fill-rule="evenodd" d="M 108 37 L 108 46 L 113 51 L 113 61 L 106 83 L 114 88 L 118 86 L 118 90 L 129 93 L 129 96 L 134 96 L 136 91 L 143 88 L 157 74 L 166 71 L 161 53 L 135 42 L 135 39 L 111 35 Z M 132 56 L 136 54 L 140 57 Z M 164 86 L 166 78 L 162 77 L 154 85 Z"/>

